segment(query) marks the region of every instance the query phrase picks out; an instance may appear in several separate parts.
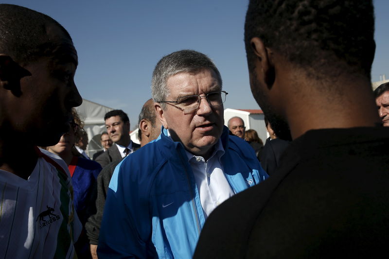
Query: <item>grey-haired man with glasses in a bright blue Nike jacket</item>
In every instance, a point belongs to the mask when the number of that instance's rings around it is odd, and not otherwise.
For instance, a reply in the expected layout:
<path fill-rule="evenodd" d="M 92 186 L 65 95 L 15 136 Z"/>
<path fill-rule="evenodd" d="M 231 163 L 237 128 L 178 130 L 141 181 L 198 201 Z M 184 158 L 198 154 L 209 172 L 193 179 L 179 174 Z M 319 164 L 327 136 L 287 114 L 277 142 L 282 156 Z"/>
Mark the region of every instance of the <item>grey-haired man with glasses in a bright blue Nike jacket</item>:
<path fill-rule="evenodd" d="M 212 210 L 267 177 L 251 147 L 224 127 L 227 92 L 206 55 L 164 56 L 151 88 L 161 135 L 116 167 L 99 258 L 192 258 Z"/>

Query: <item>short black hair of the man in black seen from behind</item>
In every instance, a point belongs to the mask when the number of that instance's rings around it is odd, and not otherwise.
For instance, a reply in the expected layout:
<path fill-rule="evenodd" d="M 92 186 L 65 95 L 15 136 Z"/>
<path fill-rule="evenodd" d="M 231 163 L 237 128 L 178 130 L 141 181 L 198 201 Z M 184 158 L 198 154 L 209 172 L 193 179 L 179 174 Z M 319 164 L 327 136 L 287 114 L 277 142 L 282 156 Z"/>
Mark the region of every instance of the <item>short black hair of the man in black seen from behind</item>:
<path fill-rule="evenodd" d="M 336 76 L 339 71 L 370 79 L 374 57 L 374 10 L 371 0 L 250 0 L 245 43 L 250 72 L 253 37 L 307 71 Z M 341 69 L 339 69 L 341 68 Z"/>

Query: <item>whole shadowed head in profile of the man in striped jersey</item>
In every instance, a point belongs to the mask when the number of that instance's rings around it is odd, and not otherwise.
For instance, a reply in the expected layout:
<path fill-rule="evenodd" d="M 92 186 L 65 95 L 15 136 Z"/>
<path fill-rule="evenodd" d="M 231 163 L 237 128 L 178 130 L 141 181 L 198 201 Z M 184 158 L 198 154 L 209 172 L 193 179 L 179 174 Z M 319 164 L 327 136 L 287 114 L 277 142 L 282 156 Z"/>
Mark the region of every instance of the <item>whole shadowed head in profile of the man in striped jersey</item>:
<path fill-rule="evenodd" d="M 0 4 L 0 20 L 1 130 L 53 145 L 82 103 L 71 37 L 51 17 L 17 5 Z"/>

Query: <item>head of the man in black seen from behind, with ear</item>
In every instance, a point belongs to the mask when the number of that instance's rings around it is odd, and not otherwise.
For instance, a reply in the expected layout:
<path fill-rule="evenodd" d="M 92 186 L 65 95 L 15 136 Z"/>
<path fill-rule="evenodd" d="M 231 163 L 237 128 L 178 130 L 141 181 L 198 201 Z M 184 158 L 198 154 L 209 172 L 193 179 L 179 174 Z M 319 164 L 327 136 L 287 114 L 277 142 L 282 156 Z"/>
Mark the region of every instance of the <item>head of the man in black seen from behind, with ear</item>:
<path fill-rule="evenodd" d="M 370 81 L 373 35 L 369 0 L 250 0 L 245 43 L 251 91 L 279 138 L 290 138 L 286 113 L 298 112 L 277 102 L 283 93 L 272 88 L 282 80 L 280 69 L 299 70 L 322 82 L 309 87 L 326 93 L 337 91 L 326 87 L 335 85 L 339 75 Z M 294 87 L 298 92 L 305 86 Z"/>

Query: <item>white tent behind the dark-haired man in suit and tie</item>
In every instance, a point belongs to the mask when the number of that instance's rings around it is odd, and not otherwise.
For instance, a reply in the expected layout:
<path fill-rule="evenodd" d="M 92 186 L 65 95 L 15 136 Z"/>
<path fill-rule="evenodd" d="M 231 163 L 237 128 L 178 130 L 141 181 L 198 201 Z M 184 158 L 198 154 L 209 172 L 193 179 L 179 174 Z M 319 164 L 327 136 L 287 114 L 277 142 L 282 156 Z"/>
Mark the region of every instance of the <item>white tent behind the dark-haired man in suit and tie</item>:
<path fill-rule="evenodd" d="M 113 108 L 96 104 L 83 99 L 80 106 L 75 108 L 82 121 L 84 121 L 84 129 L 88 133 L 88 150 L 86 151 L 89 157 L 101 150 L 100 134 L 106 131 L 104 115 L 113 110 Z"/>

